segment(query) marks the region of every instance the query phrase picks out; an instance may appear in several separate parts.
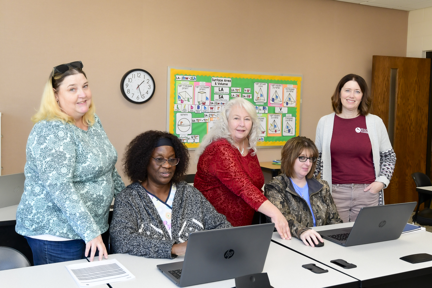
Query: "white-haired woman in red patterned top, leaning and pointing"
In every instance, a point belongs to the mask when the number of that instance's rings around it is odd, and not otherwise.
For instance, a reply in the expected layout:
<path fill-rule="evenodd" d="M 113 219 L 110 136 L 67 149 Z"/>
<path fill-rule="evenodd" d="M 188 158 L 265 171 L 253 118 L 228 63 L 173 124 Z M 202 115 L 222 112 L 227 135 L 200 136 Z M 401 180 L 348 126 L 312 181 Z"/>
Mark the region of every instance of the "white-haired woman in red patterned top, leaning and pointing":
<path fill-rule="evenodd" d="M 258 211 L 271 218 L 283 239 L 290 239 L 286 218 L 261 190 L 264 176 L 256 155 L 258 131 L 251 102 L 229 101 L 197 150 L 194 187 L 233 226 L 251 225 Z"/>

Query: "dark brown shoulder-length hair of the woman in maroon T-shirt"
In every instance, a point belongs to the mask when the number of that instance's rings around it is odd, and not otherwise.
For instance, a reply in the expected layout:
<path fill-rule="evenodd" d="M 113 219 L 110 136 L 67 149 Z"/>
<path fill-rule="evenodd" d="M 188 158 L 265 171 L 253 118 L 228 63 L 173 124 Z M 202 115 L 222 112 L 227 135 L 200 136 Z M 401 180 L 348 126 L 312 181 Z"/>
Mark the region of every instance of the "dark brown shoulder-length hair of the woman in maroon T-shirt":
<path fill-rule="evenodd" d="M 363 79 L 361 76 L 356 74 L 348 74 L 343 76 L 342 79 L 340 79 L 339 83 L 336 86 L 336 90 L 334 90 L 333 95 L 331 96 L 331 105 L 333 107 L 333 111 L 336 114 L 342 113 L 342 102 L 340 101 L 340 90 L 342 90 L 343 85 L 345 85 L 348 81 L 356 81 L 359 86 L 360 90 L 362 90 L 363 96 L 362 101 L 360 101 L 359 107 L 357 108 L 359 110 L 359 114 L 362 116 L 366 116 L 369 114 L 369 111 L 372 106 L 372 97 L 369 93 L 368 85 L 366 84 L 365 79 Z"/>

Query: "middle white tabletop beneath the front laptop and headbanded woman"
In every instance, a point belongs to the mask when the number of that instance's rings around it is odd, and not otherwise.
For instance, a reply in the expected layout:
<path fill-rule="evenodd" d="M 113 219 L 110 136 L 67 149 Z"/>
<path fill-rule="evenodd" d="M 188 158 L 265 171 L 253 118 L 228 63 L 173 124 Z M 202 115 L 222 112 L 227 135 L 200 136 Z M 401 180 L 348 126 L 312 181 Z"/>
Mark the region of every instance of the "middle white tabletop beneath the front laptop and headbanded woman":
<path fill-rule="evenodd" d="M 154 259 L 132 256 L 128 254 L 111 254 L 108 256 L 108 259 L 117 259 L 136 277 L 136 279 L 124 282 L 110 283 L 113 288 L 177 288 L 177 285 L 169 280 L 168 277 L 159 272 L 159 270 L 156 268 L 156 265 L 183 261 L 184 256 L 178 256 L 176 259 Z M 315 274 L 302 267 L 302 265 L 309 263 L 315 263 L 317 266 L 323 269 L 328 269 L 329 271 L 327 273 Z M 337 286 L 340 288 L 356 288 L 358 287 L 359 283 L 357 279 L 353 279 L 352 277 L 340 273 L 337 270 L 321 265 L 317 261 L 311 260 L 308 257 L 302 256 L 299 253 L 295 253 L 273 242 L 270 243 L 270 248 L 267 254 L 263 272 L 267 272 L 270 279 L 270 284 L 274 288 L 302 287 L 305 285 L 305 281 L 308 282 L 308 288 L 332 287 L 335 285 L 340 285 Z M 231 288 L 234 286 L 234 279 L 228 279 L 189 287 Z"/>

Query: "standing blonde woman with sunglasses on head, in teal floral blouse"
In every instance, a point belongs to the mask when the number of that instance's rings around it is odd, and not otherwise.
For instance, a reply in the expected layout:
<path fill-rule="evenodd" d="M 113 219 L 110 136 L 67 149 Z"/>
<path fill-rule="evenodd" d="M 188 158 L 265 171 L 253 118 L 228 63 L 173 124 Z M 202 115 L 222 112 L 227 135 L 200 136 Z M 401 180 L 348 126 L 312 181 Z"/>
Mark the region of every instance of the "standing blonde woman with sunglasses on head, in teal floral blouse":
<path fill-rule="evenodd" d="M 54 67 L 32 117 L 15 230 L 35 265 L 83 259 L 90 249 L 91 261 L 96 249 L 99 260 L 108 258 L 101 234 L 124 184 L 82 68 L 81 61 Z"/>

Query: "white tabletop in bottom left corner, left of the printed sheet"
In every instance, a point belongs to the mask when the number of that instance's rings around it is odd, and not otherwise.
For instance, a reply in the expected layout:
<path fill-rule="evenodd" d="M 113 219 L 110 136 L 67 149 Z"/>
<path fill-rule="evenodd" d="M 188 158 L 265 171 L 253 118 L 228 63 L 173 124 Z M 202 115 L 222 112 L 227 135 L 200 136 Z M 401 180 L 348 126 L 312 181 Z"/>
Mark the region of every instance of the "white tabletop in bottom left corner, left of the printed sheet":
<path fill-rule="evenodd" d="M 86 263 L 86 259 L 30 266 L 25 268 L 0 271 L 0 287 L 13 288 L 79 288 L 75 280 L 66 269 L 66 265 Z M 108 288 L 107 285 L 93 286 Z"/>

